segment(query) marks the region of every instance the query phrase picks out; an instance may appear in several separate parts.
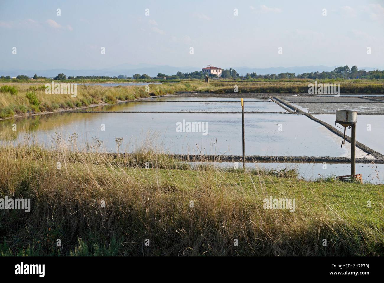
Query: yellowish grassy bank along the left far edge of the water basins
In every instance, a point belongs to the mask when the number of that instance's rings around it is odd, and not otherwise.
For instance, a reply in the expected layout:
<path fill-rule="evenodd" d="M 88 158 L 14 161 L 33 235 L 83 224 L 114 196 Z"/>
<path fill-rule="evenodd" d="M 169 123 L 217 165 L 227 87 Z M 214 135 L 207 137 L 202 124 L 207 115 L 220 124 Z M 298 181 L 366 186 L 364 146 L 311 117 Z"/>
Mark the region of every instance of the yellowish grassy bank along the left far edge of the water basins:
<path fill-rule="evenodd" d="M 76 97 L 71 94 L 46 94 L 44 84 L 0 84 L 7 92 L 0 92 L 0 118 L 54 112 L 60 109 L 76 109 L 94 104 L 114 104 L 141 97 L 172 94 L 195 87 L 193 82 L 164 83 L 146 86 L 86 86 L 78 85 Z M 197 86 L 196 86 L 197 87 Z M 8 89 L 12 89 L 8 91 Z"/>

